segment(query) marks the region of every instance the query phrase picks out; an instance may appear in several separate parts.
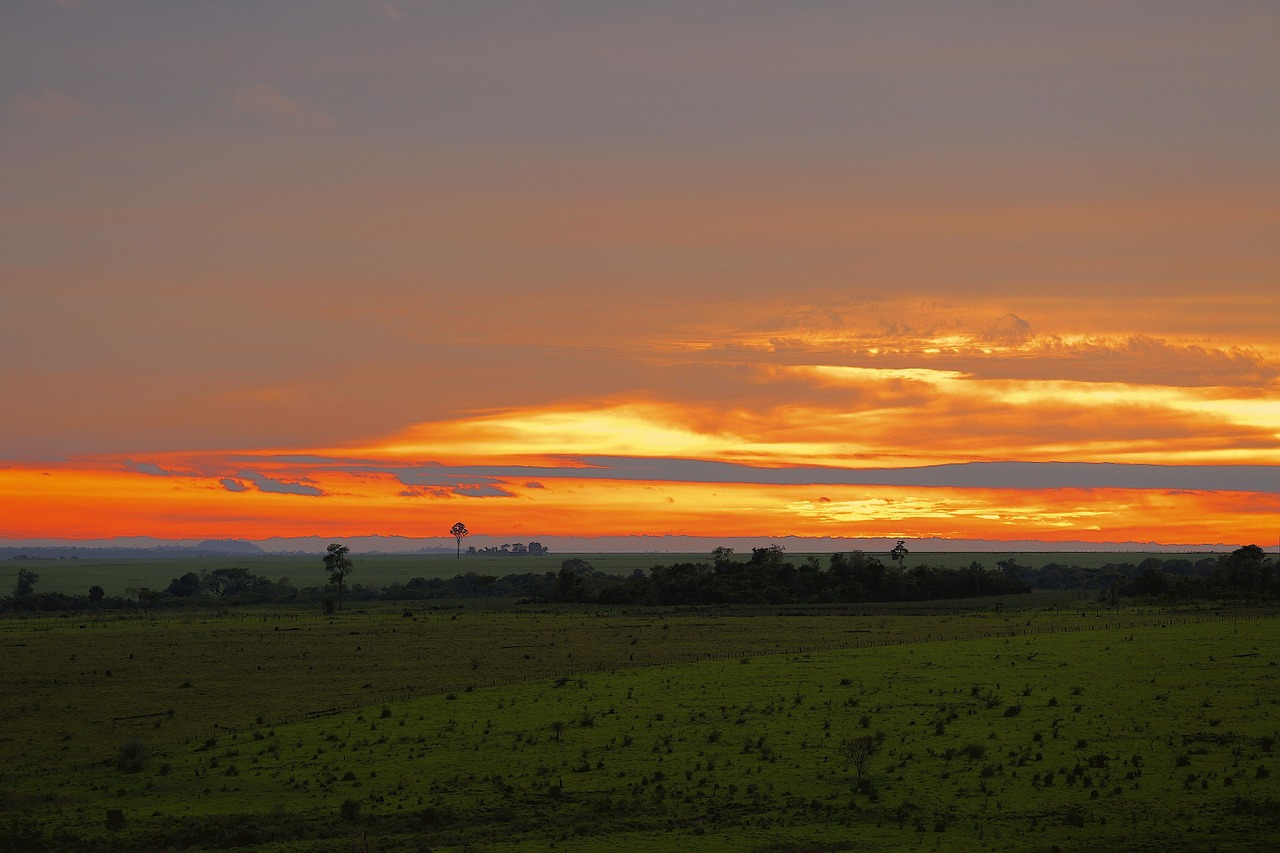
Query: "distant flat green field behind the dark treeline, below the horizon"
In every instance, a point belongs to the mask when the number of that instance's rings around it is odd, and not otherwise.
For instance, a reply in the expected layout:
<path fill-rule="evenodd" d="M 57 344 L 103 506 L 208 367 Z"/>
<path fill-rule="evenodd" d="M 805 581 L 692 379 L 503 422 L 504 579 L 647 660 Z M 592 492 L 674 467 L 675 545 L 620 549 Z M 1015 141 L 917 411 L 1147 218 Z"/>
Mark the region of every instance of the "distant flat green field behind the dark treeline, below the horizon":
<path fill-rule="evenodd" d="M 750 555 L 739 555 L 746 558 Z M 788 553 L 792 562 L 803 562 L 809 555 Z M 814 555 L 827 564 L 829 555 Z M 888 555 L 874 555 L 888 562 Z M 1019 565 L 1039 567 L 1050 562 L 1096 569 L 1108 562 L 1140 564 L 1147 557 L 1170 558 L 1174 556 L 1198 560 L 1206 553 L 1147 553 L 1147 552 L 916 552 L 906 558 L 905 566 L 920 564 L 963 569 L 970 562 L 980 562 L 987 569 L 995 569 L 1000 560 L 1015 560 Z M 385 587 L 404 583 L 412 578 L 452 578 L 475 573 L 477 575 L 515 575 L 525 573 L 559 571 L 561 564 L 571 557 L 586 560 L 596 570 L 611 575 L 630 575 L 636 569 L 648 571 L 658 565 L 676 562 L 708 562 L 708 553 L 553 553 L 539 557 L 495 557 L 488 555 L 463 555 L 461 560 L 453 555 L 353 555 L 356 571 L 351 583 L 367 587 Z M 321 555 L 312 556 L 252 556 L 252 557 L 156 557 L 156 558 L 77 558 L 77 560 L 6 560 L 0 562 L 0 589 L 12 588 L 19 569 L 29 569 L 40 575 L 37 590 L 60 592 L 83 596 L 95 584 L 102 587 L 108 596 L 123 596 L 127 589 L 164 589 L 174 578 L 188 571 L 200 573 L 212 569 L 243 567 L 269 580 L 288 578 L 297 587 L 316 587 L 325 583 L 326 575 Z"/>

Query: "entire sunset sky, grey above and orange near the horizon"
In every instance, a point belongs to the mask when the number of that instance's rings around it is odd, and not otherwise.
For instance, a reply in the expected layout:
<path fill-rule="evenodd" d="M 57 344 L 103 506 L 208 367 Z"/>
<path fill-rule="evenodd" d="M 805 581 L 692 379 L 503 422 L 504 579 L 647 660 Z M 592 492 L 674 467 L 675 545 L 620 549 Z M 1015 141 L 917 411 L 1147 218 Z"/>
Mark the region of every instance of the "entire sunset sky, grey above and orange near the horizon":
<path fill-rule="evenodd" d="M 1277 44 L 4 3 L 0 539 L 1275 543 Z"/>

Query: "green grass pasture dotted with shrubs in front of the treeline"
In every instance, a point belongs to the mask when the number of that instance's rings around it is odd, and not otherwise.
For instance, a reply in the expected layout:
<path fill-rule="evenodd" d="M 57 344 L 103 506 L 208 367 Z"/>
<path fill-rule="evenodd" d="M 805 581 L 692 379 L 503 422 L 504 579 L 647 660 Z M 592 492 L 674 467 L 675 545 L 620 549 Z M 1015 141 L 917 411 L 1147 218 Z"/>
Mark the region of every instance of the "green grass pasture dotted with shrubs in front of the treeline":
<path fill-rule="evenodd" d="M 1280 841 L 1268 615 L 407 612 L 0 622 L 0 836 L 256 850 Z M 838 747 L 861 735 L 879 753 L 859 790 Z"/>

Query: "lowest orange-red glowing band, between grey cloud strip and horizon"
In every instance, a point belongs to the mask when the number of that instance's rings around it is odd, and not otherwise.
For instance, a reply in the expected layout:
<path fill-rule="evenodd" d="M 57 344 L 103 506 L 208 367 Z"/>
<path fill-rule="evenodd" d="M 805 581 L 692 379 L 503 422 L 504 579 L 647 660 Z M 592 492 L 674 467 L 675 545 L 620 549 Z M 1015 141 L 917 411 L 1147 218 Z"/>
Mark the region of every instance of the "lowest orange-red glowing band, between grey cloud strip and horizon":
<path fill-rule="evenodd" d="M 12 538 L 439 537 L 457 517 L 498 535 L 909 537 L 1268 542 L 1280 496 L 1169 489 L 497 479 L 504 497 L 406 492 L 389 475 L 330 473 L 325 497 L 232 492 L 207 478 L 59 469 L 0 471 Z"/>

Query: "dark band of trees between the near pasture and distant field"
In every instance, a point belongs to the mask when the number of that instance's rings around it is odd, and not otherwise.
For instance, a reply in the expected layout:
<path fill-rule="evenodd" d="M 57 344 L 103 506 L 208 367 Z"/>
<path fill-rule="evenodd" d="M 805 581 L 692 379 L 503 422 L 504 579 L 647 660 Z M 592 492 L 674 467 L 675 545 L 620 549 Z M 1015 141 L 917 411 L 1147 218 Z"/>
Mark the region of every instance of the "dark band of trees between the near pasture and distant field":
<path fill-rule="evenodd" d="M 1262 548 L 1247 546 L 1228 555 L 1190 561 L 1148 557 L 1134 565 L 1080 567 L 1057 562 L 1038 569 L 1000 560 L 995 569 L 974 561 L 964 569 L 920 564 L 910 569 L 886 565 L 860 551 L 833 553 L 826 565 L 809 556 L 786 558 L 782 548 L 753 548 L 750 557 L 717 548 L 705 562 L 655 565 L 648 573 L 608 575 L 581 558 L 566 560 L 558 573 L 503 576 L 458 574 L 413 578 L 383 588 L 352 584 L 348 602 L 516 598 L 527 602 L 591 605 L 817 605 L 929 601 L 1006 596 L 1032 589 L 1074 589 L 1116 603 L 1149 601 L 1271 599 L 1280 597 L 1276 564 Z M 0 599 L 0 611 L 77 611 L 175 608 L 237 605 L 323 603 L 332 589 L 298 588 L 288 578 L 269 580 L 248 569 L 214 569 L 174 578 L 164 589 L 131 589 L 105 596 L 93 587 L 87 596 L 41 593 L 40 575 L 19 569 L 14 594 Z"/>

